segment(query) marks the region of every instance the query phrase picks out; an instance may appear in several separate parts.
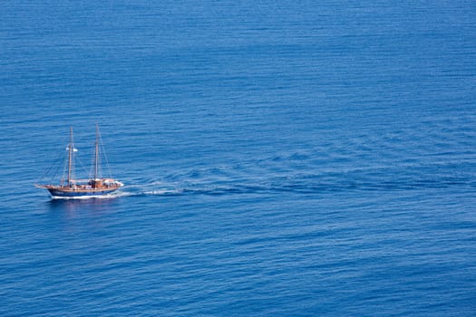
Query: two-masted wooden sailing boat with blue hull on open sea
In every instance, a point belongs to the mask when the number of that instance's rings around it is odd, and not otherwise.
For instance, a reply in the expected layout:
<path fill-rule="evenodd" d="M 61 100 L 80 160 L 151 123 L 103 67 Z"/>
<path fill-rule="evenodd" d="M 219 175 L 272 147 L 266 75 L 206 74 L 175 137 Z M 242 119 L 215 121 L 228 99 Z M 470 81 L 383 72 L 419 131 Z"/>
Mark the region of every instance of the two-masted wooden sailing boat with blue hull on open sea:
<path fill-rule="evenodd" d="M 47 189 L 53 198 L 69 197 L 101 197 L 119 189 L 123 184 L 116 179 L 101 178 L 100 176 L 100 139 L 99 125 L 96 124 L 96 142 L 94 149 L 94 177 L 91 179 L 74 179 L 74 153 L 78 150 L 74 148 L 73 128 L 70 129 L 70 142 L 66 150 L 68 151 L 68 177 L 62 178 L 60 185 L 35 185 L 36 187 Z"/>

